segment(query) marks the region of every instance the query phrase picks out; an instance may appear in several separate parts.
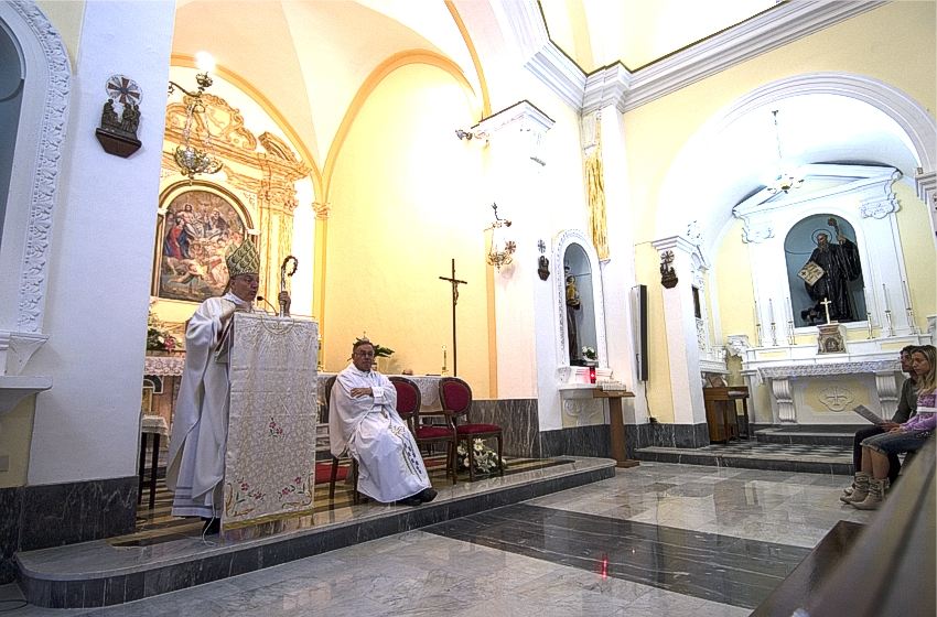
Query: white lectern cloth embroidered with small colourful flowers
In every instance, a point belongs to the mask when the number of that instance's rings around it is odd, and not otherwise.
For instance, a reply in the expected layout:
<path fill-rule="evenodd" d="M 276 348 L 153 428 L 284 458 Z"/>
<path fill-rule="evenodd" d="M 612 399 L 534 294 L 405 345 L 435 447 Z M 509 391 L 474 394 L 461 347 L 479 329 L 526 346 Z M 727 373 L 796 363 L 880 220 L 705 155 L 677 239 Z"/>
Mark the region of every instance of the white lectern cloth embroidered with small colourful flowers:
<path fill-rule="evenodd" d="M 319 325 L 235 313 L 223 529 L 311 515 Z"/>

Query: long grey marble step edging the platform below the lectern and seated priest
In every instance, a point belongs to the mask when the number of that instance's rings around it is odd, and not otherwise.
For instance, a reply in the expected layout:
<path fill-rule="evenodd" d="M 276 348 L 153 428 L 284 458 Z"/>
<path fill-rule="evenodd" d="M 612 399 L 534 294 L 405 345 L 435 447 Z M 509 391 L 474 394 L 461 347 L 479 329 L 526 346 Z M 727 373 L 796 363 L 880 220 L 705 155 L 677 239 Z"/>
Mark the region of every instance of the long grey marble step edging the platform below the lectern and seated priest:
<path fill-rule="evenodd" d="M 615 476 L 615 461 L 563 456 L 557 464 L 474 483 L 439 486 L 418 508 L 363 504 L 314 515 L 312 526 L 277 535 L 208 541 L 183 537 L 154 545 L 96 540 L 15 555 L 30 604 L 87 608 L 123 604 L 419 529 Z"/>

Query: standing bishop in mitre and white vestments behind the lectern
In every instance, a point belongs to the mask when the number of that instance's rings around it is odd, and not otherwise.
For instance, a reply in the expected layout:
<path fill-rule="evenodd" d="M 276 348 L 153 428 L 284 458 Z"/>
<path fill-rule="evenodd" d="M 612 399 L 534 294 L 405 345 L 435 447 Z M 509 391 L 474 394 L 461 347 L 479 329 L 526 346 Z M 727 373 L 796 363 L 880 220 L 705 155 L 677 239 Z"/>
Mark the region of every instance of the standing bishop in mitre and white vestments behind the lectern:
<path fill-rule="evenodd" d="M 220 527 L 230 381 L 227 326 L 235 312 L 254 312 L 260 258 L 245 240 L 225 258 L 225 294 L 198 305 L 185 331 L 185 370 L 179 387 L 169 444 L 166 486 L 175 495 L 172 515 L 202 517 L 205 530 Z M 280 293 L 290 305 L 290 294 Z"/>

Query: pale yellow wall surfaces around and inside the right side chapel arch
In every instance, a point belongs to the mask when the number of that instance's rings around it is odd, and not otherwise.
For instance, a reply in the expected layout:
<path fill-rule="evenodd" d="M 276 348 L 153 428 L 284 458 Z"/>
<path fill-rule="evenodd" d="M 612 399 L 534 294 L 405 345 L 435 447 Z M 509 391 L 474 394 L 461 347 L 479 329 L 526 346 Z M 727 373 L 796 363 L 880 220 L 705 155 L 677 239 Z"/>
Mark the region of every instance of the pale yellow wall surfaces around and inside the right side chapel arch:
<path fill-rule="evenodd" d="M 625 113 L 627 174 L 632 178 L 629 202 L 637 245 L 636 273 L 638 282 L 649 285 L 649 345 L 655 350 L 649 358 L 651 415 L 665 422 L 668 418 L 672 421 L 669 381 L 657 377 L 668 374 L 669 361 L 664 321 L 655 318 L 663 315 L 659 259 L 648 242 L 657 239 L 661 185 L 680 150 L 704 122 L 745 94 L 777 79 L 815 72 L 868 75 L 903 90 L 933 115 L 937 109 L 937 83 L 922 76 L 937 74 L 934 55 L 936 8 L 934 2 L 885 4 Z M 904 190 L 900 192 L 902 195 L 907 197 Z M 911 199 L 903 197 L 905 202 Z M 726 208 L 731 206 L 728 204 Z M 919 246 L 930 251 L 929 266 L 915 271 L 911 283 L 915 303 L 920 306 L 918 321 L 923 324 L 926 307 L 930 306 L 934 313 L 933 241 L 926 218 L 912 219 L 912 216 L 911 208 L 898 213 L 905 250 Z M 728 246 L 719 249 L 713 264 L 722 332 L 723 335 L 748 333 L 755 340 L 751 302 L 740 304 L 733 300 L 752 297 L 748 259 L 736 227 L 737 224 L 725 236 Z M 730 262 L 732 269 L 725 272 L 724 266 Z M 741 272 L 739 268 L 746 271 Z M 925 299 L 928 293 L 930 297 Z"/>

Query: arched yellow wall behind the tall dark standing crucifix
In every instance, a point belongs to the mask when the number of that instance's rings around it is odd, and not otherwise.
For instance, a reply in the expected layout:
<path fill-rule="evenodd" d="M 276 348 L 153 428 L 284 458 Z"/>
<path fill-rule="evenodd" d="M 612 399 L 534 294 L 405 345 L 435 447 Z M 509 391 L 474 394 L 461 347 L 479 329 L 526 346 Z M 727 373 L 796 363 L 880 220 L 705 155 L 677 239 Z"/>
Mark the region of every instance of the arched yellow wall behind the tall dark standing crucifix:
<path fill-rule="evenodd" d="M 364 104 L 330 187 L 323 344 L 326 370 L 347 365 L 356 336 L 395 349 L 388 372 L 452 370 L 455 258 L 459 376 L 488 393 L 487 266 L 480 194 L 481 143 L 454 137 L 472 123 L 464 90 L 443 71 L 408 65 Z"/>

